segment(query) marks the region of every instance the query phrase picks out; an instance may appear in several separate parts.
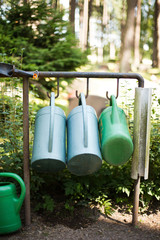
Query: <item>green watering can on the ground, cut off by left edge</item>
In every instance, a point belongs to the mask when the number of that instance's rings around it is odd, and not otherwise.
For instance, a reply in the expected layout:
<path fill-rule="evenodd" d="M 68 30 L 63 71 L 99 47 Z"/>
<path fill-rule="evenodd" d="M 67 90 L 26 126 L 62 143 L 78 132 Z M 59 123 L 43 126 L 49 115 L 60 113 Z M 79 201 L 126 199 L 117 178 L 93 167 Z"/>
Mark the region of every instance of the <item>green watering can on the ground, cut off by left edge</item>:
<path fill-rule="evenodd" d="M 15 184 L 0 182 L 0 234 L 6 234 L 21 228 L 19 213 L 25 197 L 26 187 L 22 178 L 17 174 L 0 173 L 0 177 L 14 178 L 21 187 L 21 194 L 18 198 Z"/>

